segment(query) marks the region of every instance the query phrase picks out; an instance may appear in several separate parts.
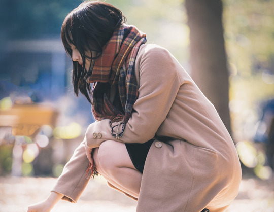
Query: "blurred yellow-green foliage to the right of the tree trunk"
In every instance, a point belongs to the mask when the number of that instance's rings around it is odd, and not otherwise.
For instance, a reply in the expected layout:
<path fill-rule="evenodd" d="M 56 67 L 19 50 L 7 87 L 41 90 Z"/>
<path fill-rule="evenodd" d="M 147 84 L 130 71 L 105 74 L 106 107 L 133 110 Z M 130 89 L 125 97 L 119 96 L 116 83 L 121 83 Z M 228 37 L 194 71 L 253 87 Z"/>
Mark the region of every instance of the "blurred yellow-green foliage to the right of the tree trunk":
<path fill-rule="evenodd" d="M 248 140 L 261 103 L 274 98 L 274 1 L 223 2 L 232 127 L 237 141 Z"/>

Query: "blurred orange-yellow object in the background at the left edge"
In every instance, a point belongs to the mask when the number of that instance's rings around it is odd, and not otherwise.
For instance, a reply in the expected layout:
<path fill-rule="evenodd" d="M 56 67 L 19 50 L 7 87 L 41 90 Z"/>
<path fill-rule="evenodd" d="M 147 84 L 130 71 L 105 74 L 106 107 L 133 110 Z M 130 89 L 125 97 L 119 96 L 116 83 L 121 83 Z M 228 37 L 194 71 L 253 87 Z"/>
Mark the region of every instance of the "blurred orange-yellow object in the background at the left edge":
<path fill-rule="evenodd" d="M 6 105 L 6 104 L 5 104 Z M 0 108 L 0 127 L 12 126 L 12 134 L 33 137 L 43 125 L 55 125 L 58 112 L 38 104 L 13 105 L 9 110 Z"/>

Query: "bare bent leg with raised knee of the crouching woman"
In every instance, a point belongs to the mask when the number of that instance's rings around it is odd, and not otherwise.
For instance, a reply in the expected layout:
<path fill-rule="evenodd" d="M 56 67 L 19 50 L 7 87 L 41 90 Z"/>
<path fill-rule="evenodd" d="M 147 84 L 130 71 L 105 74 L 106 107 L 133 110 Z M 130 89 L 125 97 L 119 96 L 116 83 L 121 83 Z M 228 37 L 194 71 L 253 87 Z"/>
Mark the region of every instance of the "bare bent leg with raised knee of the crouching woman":
<path fill-rule="evenodd" d="M 125 144 L 107 140 L 94 151 L 98 172 L 113 186 L 138 198 L 142 173 L 135 169 Z"/>

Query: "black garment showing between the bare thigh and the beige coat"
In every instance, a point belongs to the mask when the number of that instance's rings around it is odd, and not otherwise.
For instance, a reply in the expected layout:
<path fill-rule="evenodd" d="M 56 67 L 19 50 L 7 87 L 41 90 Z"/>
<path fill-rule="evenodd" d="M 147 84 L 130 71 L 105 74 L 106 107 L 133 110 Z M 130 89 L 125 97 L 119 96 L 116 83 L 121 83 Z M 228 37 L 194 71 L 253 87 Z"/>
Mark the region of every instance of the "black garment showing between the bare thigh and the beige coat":
<path fill-rule="evenodd" d="M 149 152 L 149 148 L 153 143 L 154 139 L 149 140 L 144 144 L 134 143 L 134 144 L 125 144 L 129 157 L 134 165 L 134 167 L 143 173 L 146 158 Z"/>

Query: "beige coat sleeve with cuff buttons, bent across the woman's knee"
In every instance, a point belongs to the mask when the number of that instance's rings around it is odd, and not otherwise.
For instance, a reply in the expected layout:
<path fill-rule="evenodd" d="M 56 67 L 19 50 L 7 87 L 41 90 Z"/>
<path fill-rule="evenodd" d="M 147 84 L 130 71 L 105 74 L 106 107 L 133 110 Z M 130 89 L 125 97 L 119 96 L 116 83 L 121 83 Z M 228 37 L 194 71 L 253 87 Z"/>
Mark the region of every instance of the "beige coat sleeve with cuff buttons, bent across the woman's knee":
<path fill-rule="evenodd" d="M 136 68 L 139 68 L 139 97 L 126 123 L 122 137 L 111 135 L 110 120 L 89 125 L 86 131 L 87 145 L 99 147 L 105 140 L 122 143 L 145 143 L 155 136 L 176 98 L 181 81 L 177 73 L 178 61 L 164 48 L 154 45 L 139 52 Z M 99 136 L 98 136 L 99 135 Z"/>

